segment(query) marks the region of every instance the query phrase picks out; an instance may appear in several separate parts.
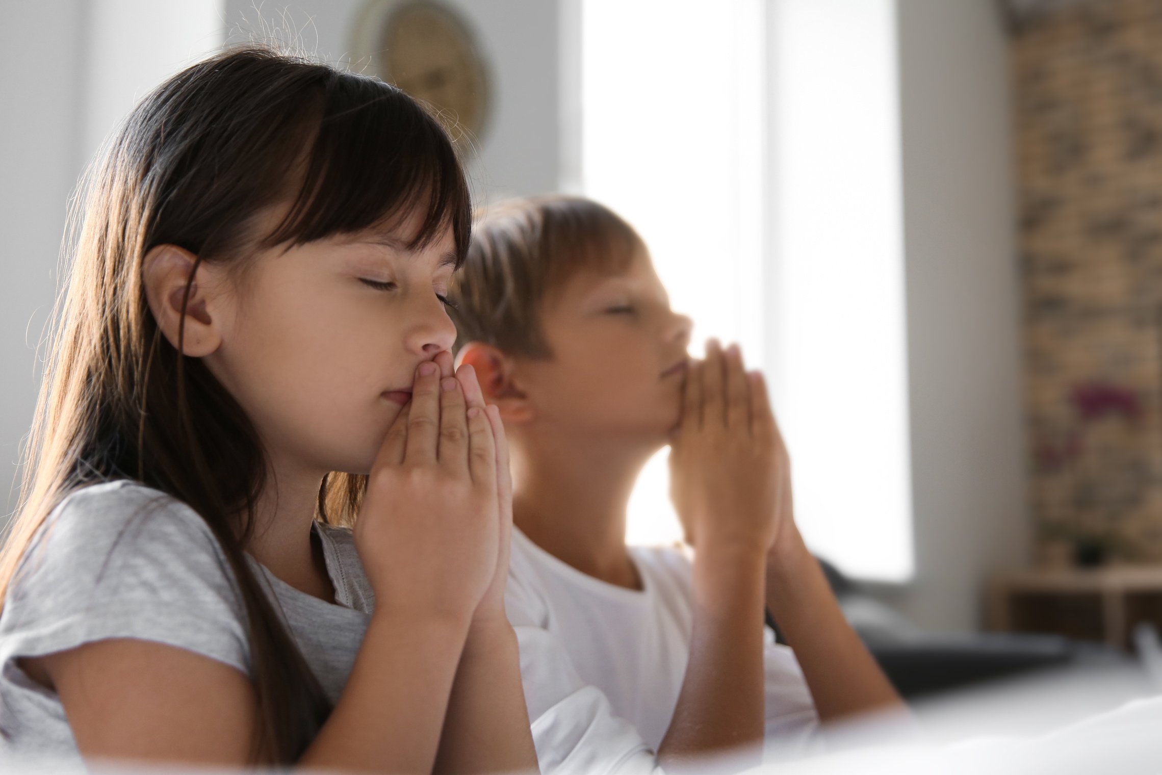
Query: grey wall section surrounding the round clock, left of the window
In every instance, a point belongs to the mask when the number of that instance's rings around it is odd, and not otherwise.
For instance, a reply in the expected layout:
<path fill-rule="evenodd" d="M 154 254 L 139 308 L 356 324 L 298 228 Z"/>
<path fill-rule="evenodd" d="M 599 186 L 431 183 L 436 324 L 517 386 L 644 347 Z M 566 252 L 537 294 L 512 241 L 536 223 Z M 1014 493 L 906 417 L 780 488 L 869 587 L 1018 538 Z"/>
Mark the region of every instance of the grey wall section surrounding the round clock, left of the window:
<path fill-rule="evenodd" d="M 444 2 L 468 23 L 492 76 L 493 106 L 480 153 L 468 159 L 476 201 L 555 191 L 561 177 L 558 2 Z M 359 63 L 351 62 L 351 31 L 364 5 L 365 0 L 225 0 L 228 40 L 274 37 L 358 71 Z"/>

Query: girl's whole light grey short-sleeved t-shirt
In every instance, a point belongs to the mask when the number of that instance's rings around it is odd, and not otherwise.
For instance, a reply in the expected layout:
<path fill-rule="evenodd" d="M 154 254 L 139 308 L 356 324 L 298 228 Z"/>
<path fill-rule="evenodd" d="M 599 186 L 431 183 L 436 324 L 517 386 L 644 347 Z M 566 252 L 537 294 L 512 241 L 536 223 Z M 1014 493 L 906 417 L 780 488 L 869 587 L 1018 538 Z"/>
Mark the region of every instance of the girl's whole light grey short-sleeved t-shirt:
<path fill-rule="evenodd" d="M 315 524 L 336 603 L 259 581 L 331 702 L 354 665 L 374 604 L 351 531 Z M 246 617 L 225 558 L 185 503 L 128 480 L 79 489 L 49 515 L 0 613 L 0 753 L 79 758 L 60 698 L 20 668 L 109 638 L 152 640 L 250 673 Z M 308 741 L 309 742 L 309 741 Z"/>

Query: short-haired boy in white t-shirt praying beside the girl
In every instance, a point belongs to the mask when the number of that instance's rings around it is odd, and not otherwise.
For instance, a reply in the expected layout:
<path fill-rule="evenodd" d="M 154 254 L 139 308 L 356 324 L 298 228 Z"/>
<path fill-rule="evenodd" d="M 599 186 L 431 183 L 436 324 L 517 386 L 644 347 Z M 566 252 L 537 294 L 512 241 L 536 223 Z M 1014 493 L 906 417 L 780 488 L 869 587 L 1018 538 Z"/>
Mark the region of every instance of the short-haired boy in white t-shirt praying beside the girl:
<path fill-rule="evenodd" d="M 450 297 L 511 444 L 505 603 L 543 772 L 756 763 L 767 738 L 901 706 L 795 528 L 761 375 L 713 342 L 688 359 L 690 321 L 629 224 L 576 198 L 493 208 Z M 633 482 L 667 443 L 693 564 L 625 546 Z"/>

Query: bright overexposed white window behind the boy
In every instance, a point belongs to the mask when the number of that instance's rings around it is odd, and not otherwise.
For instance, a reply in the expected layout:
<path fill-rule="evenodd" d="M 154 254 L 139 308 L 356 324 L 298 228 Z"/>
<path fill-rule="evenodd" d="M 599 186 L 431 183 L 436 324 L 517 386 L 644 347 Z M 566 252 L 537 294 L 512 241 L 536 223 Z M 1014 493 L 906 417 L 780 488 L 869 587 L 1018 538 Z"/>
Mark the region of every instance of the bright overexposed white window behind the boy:
<path fill-rule="evenodd" d="M 769 376 L 812 548 L 911 576 L 894 0 L 583 0 L 582 191 Z M 680 536 L 665 453 L 630 540 Z"/>

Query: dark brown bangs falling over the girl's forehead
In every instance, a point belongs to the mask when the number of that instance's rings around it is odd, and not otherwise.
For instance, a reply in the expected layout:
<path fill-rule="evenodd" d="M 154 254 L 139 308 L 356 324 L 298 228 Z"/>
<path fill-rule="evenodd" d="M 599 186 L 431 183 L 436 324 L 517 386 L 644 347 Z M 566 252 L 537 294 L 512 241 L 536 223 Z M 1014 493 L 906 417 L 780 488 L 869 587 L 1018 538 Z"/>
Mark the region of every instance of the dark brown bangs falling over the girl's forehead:
<path fill-rule="evenodd" d="M 472 202 L 439 122 L 399 88 L 351 73 L 335 73 L 320 109 L 309 113 L 314 125 L 300 132 L 306 152 L 286 167 L 299 171 L 297 180 L 282 188 L 297 194 L 263 243 L 294 246 L 367 229 L 399 232 L 416 218 L 414 234 L 397 235 L 407 247 L 425 247 L 451 228 L 459 267 L 468 250 Z"/>

